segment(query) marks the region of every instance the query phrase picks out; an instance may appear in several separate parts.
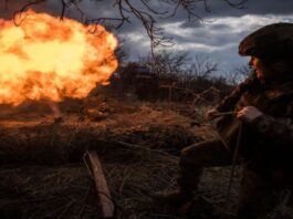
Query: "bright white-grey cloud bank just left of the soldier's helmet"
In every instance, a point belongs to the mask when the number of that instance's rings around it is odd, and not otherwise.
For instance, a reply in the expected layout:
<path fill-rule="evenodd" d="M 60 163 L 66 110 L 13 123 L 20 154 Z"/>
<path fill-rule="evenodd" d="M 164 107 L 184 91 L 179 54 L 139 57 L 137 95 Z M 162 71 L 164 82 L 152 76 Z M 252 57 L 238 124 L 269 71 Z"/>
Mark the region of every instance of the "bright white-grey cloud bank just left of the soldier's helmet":
<path fill-rule="evenodd" d="M 281 21 L 293 21 L 293 14 L 219 17 L 200 28 L 187 28 L 182 22 L 177 22 L 166 24 L 165 29 L 167 33 L 174 35 L 175 50 L 208 54 L 221 62 L 223 67 L 229 69 L 231 63 L 232 65 L 247 63 L 247 59 L 238 55 L 238 45 L 245 35 L 263 25 Z"/>

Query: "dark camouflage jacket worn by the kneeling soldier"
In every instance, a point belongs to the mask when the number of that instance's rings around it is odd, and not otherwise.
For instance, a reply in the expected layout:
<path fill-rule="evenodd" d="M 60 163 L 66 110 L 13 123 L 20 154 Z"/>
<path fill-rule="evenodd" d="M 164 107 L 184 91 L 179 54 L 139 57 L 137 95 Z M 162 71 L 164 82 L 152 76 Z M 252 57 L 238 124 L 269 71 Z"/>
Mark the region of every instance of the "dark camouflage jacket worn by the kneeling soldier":
<path fill-rule="evenodd" d="M 263 115 L 242 124 L 240 155 L 255 170 L 293 169 L 293 77 L 261 82 L 254 75 L 240 84 L 218 106 L 220 112 L 255 106 Z M 233 150 L 241 122 L 222 116 L 217 128 L 226 145 Z"/>

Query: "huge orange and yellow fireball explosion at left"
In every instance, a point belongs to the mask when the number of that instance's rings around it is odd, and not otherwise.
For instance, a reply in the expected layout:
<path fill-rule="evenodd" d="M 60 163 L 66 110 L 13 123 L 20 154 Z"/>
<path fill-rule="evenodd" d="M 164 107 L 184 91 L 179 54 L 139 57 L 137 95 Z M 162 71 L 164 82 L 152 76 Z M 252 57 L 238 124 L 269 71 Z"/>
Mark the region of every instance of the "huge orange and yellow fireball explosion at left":
<path fill-rule="evenodd" d="M 116 70 L 116 46 L 102 25 L 33 11 L 20 25 L 1 19 L 0 103 L 85 97 Z"/>

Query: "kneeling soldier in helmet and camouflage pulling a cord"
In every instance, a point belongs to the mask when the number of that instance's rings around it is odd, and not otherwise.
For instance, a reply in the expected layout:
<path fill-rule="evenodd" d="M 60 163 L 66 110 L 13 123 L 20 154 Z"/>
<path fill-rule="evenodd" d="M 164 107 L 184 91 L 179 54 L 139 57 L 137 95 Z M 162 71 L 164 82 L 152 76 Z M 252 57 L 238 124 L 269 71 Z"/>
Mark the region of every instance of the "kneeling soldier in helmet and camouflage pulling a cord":
<path fill-rule="evenodd" d="M 238 138 L 243 173 L 237 218 L 260 218 L 275 206 L 279 189 L 293 187 L 293 24 L 259 29 L 244 38 L 239 53 L 251 56 L 253 74 L 207 113 L 212 118 L 236 112 L 218 118 L 220 139 L 182 149 L 180 189 L 161 195 L 177 209 L 192 200 L 202 167 L 231 165 Z"/>

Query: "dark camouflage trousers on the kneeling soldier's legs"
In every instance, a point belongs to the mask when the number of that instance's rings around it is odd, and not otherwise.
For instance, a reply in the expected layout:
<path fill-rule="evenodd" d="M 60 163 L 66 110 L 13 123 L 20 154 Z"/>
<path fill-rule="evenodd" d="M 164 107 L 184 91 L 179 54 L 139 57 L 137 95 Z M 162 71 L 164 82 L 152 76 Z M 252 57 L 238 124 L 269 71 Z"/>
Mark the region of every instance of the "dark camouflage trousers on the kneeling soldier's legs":
<path fill-rule="evenodd" d="M 231 165 L 232 153 L 219 140 L 193 144 L 181 150 L 178 185 L 185 192 L 197 190 L 203 167 Z M 254 219 L 272 210 L 278 204 L 272 186 L 254 171 L 243 167 L 238 218 Z"/>

